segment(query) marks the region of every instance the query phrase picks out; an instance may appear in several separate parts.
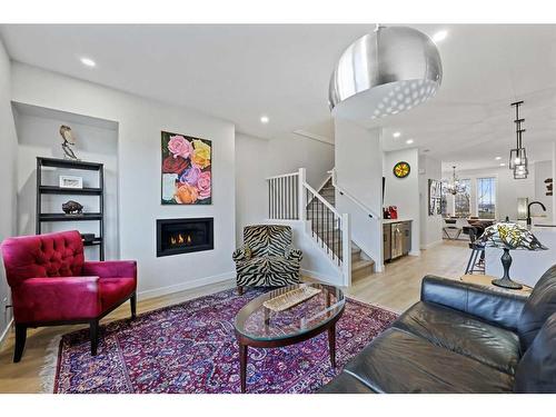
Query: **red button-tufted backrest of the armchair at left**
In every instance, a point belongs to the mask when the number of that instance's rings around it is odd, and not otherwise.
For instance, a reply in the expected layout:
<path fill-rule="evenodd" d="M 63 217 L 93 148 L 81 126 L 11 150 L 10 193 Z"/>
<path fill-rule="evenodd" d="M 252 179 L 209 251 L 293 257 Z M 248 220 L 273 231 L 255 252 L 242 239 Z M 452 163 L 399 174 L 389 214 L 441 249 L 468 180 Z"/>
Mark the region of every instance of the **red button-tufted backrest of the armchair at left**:
<path fill-rule="evenodd" d="M 2 255 L 10 287 L 28 278 L 80 276 L 85 261 L 77 230 L 8 238 Z"/>

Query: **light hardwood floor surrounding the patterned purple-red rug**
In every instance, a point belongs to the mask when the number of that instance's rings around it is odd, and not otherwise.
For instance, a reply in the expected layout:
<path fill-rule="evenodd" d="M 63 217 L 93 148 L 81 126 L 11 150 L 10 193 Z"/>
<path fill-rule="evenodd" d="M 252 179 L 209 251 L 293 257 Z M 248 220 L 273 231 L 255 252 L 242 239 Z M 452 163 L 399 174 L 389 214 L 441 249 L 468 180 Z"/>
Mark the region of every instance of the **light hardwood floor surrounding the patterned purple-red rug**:
<path fill-rule="evenodd" d="M 350 297 L 401 312 L 419 299 L 420 280 L 427 275 L 439 275 L 459 279 L 464 274 L 468 257 L 468 246 L 464 241 L 445 241 L 421 251 L 420 257 L 404 257 L 388 264 L 384 272 L 361 277 L 346 289 Z M 178 304 L 235 287 L 234 281 L 211 285 L 195 290 L 140 300 L 138 314 Z M 129 317 L 129 302 L 115 310 L 101 322 Z M 79 326 L 41 327 L 29 329 L 23 358 L 12 363 L 14 335 L 10 331 L 0 348 L 0 393 L 40 393 L 42 390 L 40 370 L 44 363 L 50 341 L 60 335 L 83 328 Z"/>

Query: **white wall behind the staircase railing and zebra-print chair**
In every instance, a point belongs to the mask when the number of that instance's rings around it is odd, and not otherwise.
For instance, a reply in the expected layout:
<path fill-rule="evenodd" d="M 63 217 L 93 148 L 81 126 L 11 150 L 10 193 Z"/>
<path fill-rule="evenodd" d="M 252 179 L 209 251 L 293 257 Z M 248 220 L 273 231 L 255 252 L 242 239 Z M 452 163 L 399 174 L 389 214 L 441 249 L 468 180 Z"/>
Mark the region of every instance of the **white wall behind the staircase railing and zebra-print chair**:
<path fill-rule="evenodd" d="M 268 191 L 265 178 L 297 172 L 306 168 L 307 182 L 318 188 L 334 168 L 334 145 L 281 135 L 266 140 L 236 135 L 236 220 L 237 244 L 246 225 L 268 218 Z"/>

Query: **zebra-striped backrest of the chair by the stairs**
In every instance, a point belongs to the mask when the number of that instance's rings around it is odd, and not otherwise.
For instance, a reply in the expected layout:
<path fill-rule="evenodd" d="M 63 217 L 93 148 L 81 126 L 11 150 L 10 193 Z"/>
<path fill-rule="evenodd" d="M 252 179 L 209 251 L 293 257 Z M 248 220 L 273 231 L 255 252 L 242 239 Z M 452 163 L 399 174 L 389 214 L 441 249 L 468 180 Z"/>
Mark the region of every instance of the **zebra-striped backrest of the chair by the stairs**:
<path fill-rule="evenodd" d="M 291 228 L 281 225 L 256 225 L 244 228 L 244 244 L 249 246 L 254 257 L 285 256 L 291 245 Z"/>

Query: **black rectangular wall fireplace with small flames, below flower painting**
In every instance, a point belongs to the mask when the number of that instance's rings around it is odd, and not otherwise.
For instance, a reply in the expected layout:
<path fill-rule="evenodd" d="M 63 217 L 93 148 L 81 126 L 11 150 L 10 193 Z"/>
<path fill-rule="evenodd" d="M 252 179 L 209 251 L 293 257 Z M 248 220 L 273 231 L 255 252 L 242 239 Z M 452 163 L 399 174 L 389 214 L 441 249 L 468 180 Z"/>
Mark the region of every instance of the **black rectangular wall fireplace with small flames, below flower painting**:
<path fill-rule="evenodd" d="M 157 257 L 215 248 L 214 219 L 157 220 Z"/>

